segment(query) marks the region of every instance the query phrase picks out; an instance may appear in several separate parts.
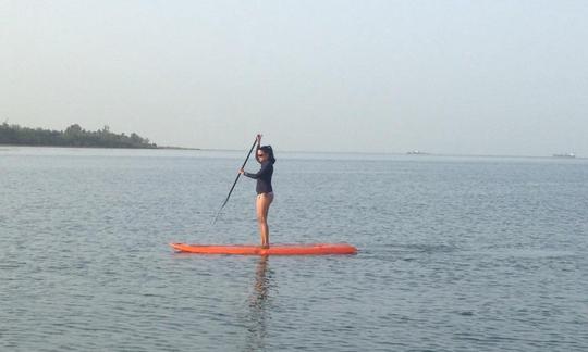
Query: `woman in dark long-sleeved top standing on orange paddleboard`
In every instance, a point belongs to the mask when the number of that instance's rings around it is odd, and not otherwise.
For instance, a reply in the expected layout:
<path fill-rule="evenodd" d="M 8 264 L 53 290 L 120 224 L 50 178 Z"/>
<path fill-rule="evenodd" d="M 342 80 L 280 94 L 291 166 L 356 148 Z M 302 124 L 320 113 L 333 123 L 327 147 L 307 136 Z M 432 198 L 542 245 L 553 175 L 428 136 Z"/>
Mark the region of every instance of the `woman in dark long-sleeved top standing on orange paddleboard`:
<path fill-rule="evenodd" d="M 261 168 L 256 174 L 245 172 L 243 168 L 240 173 L 257 179 L 257 224 L 259 225 L 259 235 L 261 236 L 261 247 L 269 248 L 269 227 L 268 227 L 268 211 L 273 201 L 273 188 L 271 187 L 271 176 L 273 175 L 273 150 L 271 146 L 261 147 L 261 135 L 257 135 L 257 151 L 255 159 L 261 164 Z"/>

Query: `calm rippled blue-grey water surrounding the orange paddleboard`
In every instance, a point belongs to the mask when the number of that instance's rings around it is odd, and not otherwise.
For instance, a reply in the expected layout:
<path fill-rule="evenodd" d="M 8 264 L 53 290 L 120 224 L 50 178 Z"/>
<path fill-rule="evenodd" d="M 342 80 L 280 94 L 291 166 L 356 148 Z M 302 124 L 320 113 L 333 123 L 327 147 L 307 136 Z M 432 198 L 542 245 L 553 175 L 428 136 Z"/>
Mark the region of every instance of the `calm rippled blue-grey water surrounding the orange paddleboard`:
<path fill-rule="evenodd" d="M 587 351 L 588 161 L 0 148 L 1 351 Z M 248 169 L 257 165 L 250 163 Z"/>

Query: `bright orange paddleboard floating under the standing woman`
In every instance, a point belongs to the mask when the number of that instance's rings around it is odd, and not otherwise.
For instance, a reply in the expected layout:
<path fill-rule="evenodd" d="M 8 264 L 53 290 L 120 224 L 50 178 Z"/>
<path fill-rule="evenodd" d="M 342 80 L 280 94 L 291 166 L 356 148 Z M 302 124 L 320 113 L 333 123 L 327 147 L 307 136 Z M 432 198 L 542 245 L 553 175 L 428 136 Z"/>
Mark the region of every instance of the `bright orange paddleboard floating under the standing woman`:
<path fill-rule="evenodd" d="M 347 243 L 313 243 L 313 244 L 271 244 L 261 248 L 253 244 L 186 244 L 170 243 L 179 252 L 199 254 L 241 254 L 241 255 L 320 255 L 320 254 L 355 254 L 357 249 Z"/>

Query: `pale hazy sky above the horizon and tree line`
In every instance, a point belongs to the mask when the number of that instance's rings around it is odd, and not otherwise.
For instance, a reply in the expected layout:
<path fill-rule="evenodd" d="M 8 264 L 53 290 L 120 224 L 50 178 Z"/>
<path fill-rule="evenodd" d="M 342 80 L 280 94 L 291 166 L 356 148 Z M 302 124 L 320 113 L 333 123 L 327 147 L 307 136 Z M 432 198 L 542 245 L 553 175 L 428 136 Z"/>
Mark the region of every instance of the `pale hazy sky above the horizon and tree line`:
<path fill-rule="evenodd" d="M 0 0 L 0 121 L 588 156 L 588 1 Z"/>

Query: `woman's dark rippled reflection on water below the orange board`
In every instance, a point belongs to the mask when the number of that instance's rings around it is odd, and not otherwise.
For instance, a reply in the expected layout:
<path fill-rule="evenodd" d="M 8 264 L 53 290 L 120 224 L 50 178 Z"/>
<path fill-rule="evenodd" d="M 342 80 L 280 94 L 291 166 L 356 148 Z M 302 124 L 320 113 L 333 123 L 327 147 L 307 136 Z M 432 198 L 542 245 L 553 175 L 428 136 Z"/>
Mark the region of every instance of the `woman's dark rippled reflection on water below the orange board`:
<path fill-rule="evenodd" d="M 261 255 L 255 271 L 255 284 L 249 297 L 248 336 L 245 351 L 260 351 L 266 348 L 269 298 L 272 288 L 271 271 L 268 268 L 267 255 Z"/>

